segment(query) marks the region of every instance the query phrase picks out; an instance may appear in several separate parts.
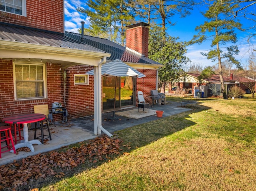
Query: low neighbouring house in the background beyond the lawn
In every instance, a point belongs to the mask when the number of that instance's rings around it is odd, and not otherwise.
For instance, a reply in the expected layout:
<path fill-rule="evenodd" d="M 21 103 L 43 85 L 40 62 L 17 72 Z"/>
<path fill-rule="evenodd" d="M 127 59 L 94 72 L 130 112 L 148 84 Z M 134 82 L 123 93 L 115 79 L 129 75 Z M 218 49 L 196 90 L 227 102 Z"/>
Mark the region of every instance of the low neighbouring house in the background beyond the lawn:
<path fill-rule="evenodd" d="M 199 86 L 208 86 L 208 96 L 220 96 L 220 75 L 214 74 L 210 78 L 202 79 L 198 81 L 198 76 L 200 74 L 186 73 L 180 76 L 180 81 L 178 86 L 182 89 L 192 88 L 192 93 L 194 94 L 194 88 Z M 228 93 L 229 88 L 232 85 L 239 85 L 244 91 L 248 92 L 248 87 L 244 85 L 245 83 L 255 84 L 254 79 L 248 77 L 234 77 L 231 73 L 230 77 L 223 76 L 223 81 L 225 85 L 226 93 Z M 256 89 L 255 89 L 256 90 Z"/>

